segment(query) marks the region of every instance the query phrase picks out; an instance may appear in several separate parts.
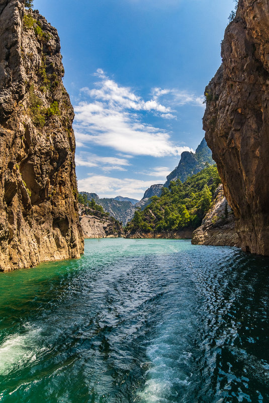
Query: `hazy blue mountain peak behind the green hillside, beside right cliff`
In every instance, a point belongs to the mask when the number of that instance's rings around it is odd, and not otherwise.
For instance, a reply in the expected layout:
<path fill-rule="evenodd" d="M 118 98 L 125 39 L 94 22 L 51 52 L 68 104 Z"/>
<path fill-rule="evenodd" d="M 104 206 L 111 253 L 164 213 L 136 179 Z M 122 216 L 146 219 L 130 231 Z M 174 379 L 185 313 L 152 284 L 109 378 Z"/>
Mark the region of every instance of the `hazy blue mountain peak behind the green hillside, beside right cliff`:
<path fill-rule="evenodd" d="M 195 153 L 184 151 L 181 154 L 181 160 L 178 166 L 166 177 L 166 182 L 163 185 L 168 187 L 171 181 L 180 179 L 185 182 L 186 179 L 205 168 L 206 164 L 213 165 L 212 152 L 208 147 L 205 138 L 201 141 L 197 147 Z"/>

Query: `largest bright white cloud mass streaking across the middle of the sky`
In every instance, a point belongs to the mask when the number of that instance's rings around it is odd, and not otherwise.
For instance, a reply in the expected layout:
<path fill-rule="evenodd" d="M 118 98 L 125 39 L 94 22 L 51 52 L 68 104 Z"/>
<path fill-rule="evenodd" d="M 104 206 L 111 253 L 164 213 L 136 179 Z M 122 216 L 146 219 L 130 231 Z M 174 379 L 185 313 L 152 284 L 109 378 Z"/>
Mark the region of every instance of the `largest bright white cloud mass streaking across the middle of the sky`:
<path fill-rule="evenodd" d="M 170 139 L 166 130 L 143 122 L 143 114 L 151 113 L 163 119 L 174 119 L 171 105 L 199 104 L 198 98 L 178 90 L 152 90 L 151 99 L 143 100 L 129 87 L 122 87 L 107 77 L 102 69 L 96 88 L 81 90 L 87 100 L 75 106 L 74 129 L 78 146 L 97 144 L 131 155 L 179 156 L 189 147 L 182 147 Z M 159 101 L 166 97 L 164 105 Z M 169 100 L 168 100 L 169 98 Z M 169 101 L 169 102 L 168 102 Z"/>

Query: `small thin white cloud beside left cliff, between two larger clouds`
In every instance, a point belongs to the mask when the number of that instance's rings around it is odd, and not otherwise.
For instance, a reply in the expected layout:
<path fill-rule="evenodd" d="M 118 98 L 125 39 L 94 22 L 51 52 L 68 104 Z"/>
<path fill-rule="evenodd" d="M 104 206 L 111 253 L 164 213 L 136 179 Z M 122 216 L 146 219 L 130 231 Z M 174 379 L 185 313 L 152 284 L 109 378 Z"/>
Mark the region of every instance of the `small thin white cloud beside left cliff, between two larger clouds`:
<path fill-rule="evenodd" d="M 88 152 L 76 154 L 75 163 L 77 167 L 99 167 L 104 172 L 110 172 L 112 170 L 126 171 L 126 168 L 123 167 L 130 165 L 126 158 L 102 157 Z"/>

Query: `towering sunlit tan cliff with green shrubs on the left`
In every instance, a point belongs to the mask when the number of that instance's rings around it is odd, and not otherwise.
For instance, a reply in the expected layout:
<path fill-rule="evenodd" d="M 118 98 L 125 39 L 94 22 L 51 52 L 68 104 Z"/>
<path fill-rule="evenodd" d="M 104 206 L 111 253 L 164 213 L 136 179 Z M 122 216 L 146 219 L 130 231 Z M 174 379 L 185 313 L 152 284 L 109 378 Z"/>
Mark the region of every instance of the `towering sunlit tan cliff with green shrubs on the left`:
<path fill-rule="evenodd" d="M 0 0 L 0 270 L 79 258 L 73 109 L 55 28 Z"/>

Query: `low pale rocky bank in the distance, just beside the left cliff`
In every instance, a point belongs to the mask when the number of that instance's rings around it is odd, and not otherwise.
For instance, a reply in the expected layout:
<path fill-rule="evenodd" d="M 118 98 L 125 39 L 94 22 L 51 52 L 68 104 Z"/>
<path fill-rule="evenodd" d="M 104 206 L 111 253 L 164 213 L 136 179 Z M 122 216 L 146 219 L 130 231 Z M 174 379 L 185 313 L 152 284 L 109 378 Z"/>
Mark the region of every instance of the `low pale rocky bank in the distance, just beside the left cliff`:
<path fill-rule="evenodd" d="M 80 206 L 79 221 L 84 238 L 118 238 L 124 235 L 120 223 L 100 211 Z"/>

